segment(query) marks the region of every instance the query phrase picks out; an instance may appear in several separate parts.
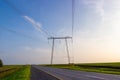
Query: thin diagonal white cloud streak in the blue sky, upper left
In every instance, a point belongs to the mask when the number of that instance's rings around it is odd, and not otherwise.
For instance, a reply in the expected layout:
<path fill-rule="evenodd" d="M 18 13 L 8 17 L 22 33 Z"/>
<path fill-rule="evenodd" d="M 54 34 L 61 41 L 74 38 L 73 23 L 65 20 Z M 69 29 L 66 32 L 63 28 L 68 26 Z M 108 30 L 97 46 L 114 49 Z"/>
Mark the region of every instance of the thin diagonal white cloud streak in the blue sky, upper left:
<path fill-rule="evenodd" d="M 36 22 L 34 19 L 32 19 L 32 18 L 30 18 L 30 17 L 28 17 L 28 16 L 23 16 L 24 17 L 24 19 L 26 19 L 28 22 L 30 22 L 34 27 L 35 27 L 35 29 L 37 29 L 38 31 L 40 31 L 41 32 L 41 23 L 39 23 L 39 22 Z"/>

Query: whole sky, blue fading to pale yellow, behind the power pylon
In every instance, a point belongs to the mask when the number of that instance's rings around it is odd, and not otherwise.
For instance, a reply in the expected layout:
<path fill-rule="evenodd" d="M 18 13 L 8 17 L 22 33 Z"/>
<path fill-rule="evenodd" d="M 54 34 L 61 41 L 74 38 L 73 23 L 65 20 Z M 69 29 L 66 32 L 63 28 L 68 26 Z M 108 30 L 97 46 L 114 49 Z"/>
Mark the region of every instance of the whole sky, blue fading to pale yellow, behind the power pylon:
<path fill-rule="evenodd" d="M 119 4 L 75 0 L 71 62 L 119 61 Z M 72 0 L 0 0 L 0 58 L 5 64 L 50 63 L 51 41 L 42 30 L 50 36 L 71 36 L 71 12 Z M 64 41 L 56 41 L 54 63 L 67 63 Z"/>

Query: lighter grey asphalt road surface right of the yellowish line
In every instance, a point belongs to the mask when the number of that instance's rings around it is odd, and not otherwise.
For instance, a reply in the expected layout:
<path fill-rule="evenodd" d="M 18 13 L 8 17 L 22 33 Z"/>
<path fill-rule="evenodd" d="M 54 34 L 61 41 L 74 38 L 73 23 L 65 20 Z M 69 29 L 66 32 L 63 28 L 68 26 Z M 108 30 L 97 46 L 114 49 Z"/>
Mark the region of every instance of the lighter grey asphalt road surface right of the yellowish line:
<path fill-rule="evenodd" d="M 33 66 L 33 67 L 38 70 L 42 70 L 52 76 L 55 76 L 60 80 L 120 80 L 120 75 L 74 71 L 67 69 L 42 67 L 42 66 Z M 48 80 L 54 80 L 54 79 L 48 79 Z"/>

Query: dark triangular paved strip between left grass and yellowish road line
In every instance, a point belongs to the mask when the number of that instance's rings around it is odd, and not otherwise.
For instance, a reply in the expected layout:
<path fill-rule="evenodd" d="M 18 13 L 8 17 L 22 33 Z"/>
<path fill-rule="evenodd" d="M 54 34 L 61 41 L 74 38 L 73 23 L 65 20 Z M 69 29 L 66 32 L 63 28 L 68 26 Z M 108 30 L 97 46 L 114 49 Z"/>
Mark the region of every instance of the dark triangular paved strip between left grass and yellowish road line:
<path fill-rule="evenodd" d="M 59 80 L 59 79 L 31 66 L 31 80 Z"/>

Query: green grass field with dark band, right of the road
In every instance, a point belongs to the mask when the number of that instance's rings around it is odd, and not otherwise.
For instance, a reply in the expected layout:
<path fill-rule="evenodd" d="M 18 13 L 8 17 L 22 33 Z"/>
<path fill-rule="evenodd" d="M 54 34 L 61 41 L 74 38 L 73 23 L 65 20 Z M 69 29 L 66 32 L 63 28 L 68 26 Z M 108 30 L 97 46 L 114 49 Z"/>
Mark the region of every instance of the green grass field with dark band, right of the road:
<path fill-rule="evenodd" d="M 46 66 L 51 66 L 51 65 L 46 65 Z M 61 65 L 52 65 L 51 67 L 120 75 L 120 63 L 86 63 L 86 64 L 74 64 L 74 65 L 61 64 Z"/>

